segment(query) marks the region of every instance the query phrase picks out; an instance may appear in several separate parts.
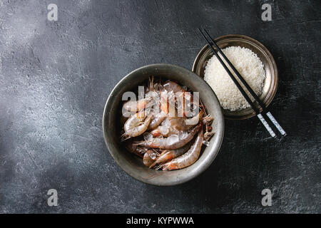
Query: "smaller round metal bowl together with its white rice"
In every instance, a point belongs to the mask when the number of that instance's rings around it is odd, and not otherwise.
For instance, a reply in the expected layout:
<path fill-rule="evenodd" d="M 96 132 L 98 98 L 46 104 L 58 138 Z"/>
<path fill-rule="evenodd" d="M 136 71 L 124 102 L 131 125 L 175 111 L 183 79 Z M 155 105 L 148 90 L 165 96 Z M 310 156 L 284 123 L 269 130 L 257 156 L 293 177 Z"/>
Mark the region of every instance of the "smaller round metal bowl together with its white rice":
<path fill-rule="evenodd" d="M 215 42 L 260 100 L 263 100 L 265 106 L 269 105 L 278 84 L 277 66 L 270 51 L 259 41 L 244 35 L 220 36 Z M 226 62 L 225 65 L 228 66 Z M 192 71 L 213 89 L 225 118 L 243 120 L 255 116 L 254 110 L 250 108 L 208 45 L 198 53 Z M 233 72 L 231 68 L 230 71 Z M 250 93 L 248 95 L 252 98 Z M 254 98 L 252 100 L 254 101 Z"/>

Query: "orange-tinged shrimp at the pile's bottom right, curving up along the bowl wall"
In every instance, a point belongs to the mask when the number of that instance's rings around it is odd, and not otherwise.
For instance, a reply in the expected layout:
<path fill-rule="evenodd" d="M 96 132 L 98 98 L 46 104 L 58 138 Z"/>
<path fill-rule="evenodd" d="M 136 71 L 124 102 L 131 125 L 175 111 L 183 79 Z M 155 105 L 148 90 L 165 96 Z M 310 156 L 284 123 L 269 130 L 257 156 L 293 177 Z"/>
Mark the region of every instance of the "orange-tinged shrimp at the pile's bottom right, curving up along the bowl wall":
<path fill-rule="evenodd" d="M 190 147 L 190 150 L 188 150 L 188 152 L 185 152 L 185 154 L 180 155 L 179 157 L 176 157 L 173 160 L 170 160 L 170 162 L 166 162 L 165 164 L 161 165 L 158 168 L 161 168 L 162 170 L 167 171 L 167 170 L 183 169 L 185 167 L 192 165 L 194 162 L 196 162 L 196 160 L 198 160 L 202 145 L 203 145 L 203 128 L 198 133 L 198 137 L 196 138 L 194 144 Z"/>

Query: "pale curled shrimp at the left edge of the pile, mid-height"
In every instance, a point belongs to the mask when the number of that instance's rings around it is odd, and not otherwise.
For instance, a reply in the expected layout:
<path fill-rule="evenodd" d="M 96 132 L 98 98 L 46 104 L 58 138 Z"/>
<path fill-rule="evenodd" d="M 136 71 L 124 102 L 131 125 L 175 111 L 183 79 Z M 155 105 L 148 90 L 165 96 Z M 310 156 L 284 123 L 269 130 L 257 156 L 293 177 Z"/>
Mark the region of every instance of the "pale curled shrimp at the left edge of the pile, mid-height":
<path fill-rule="evenodd" d="M 128 118 L 123 127 L 125 133 L 121 135 L 122 141 L 127 140 L 131 137 L 137 137 L 146 132 L 149 123 L 151 123 L 152 115 L 148 115 L 145 120 L 144 117 L 145 114 L 136 113 L 135 115 L 132 115 L 130 118 Z"/>

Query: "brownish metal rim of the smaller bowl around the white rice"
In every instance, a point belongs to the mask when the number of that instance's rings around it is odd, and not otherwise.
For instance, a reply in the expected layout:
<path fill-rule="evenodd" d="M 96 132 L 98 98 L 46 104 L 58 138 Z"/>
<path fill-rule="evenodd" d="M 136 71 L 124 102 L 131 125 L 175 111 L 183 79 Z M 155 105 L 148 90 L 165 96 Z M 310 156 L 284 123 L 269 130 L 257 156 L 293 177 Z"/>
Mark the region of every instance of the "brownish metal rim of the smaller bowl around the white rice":
<path fill-rule="evenodd" d="M 227 35 L 215 38 L 215 42 L 220 48 L 228 46 L 241 46 L 249 48 L 256 53 L 263 63 L 265 70 L 265 83 L 263 86 L 263 93 L 260 95 L 260 100 L 267 106 L 271 103 L 277 91 L 278 76 L 277 66 L 270 51 L 265 46 L 254 38 L 243 35 Z M 205 45 L 196 56 L 192 71 L 201 78 L 204 77 L 205 66 L 208 60 L 213 56 L 210 46 Z M 240 110 L 230 111 L 223 110 L 225 118 L 233 120 L 244 120 L 255 116 L 253 108 L 244 108 Z"/>

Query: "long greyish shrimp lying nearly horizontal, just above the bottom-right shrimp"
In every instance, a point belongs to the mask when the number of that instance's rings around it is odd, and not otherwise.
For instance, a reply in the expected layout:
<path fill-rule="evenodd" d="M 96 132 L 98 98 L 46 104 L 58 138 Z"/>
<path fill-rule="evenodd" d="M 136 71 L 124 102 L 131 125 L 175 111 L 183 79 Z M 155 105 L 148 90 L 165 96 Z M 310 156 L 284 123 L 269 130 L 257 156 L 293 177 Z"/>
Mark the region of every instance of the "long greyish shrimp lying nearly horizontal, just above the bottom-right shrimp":
<path fill-rule="evenodd" d="M 136 145 L 166 150 L 178 149 L 190 142 L 190 140 L 193 139 L 195 133 L 197 133 L 200 128 L 201 124 L 193 128 L 190 133 L 183 132 L 179 135 L 170 135 L 168 138 L 152 138 L 151 140 L 136 142 Z"/>

